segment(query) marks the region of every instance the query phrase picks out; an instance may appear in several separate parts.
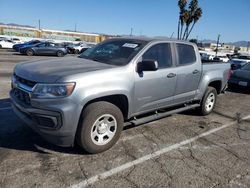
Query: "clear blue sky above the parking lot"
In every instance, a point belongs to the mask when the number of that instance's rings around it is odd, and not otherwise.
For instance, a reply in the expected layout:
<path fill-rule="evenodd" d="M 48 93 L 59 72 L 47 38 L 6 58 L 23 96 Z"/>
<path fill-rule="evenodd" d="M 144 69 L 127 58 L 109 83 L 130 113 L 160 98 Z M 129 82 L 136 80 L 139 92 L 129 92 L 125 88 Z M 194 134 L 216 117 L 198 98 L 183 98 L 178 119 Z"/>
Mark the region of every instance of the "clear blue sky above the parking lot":
<path fill-rule="evenodd" d="M 178 0 L 0 0 L 0 22 L 111 35 L 177 35 Z M 199 0 L 190 38 L 250 41 L 250 0 Z"/>

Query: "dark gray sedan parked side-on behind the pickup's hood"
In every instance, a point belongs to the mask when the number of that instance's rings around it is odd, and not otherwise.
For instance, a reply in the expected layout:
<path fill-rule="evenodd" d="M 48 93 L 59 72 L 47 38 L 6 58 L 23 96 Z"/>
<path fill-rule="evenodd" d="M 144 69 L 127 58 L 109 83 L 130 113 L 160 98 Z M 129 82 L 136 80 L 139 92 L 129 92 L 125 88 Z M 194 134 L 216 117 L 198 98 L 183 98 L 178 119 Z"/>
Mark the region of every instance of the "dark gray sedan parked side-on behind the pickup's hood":
<path fill-rule="evenodd" d="M 20 48 L 19 52 L 28 56 L 56 55 L 58 57 L 62 57 L 67 54 L 67 50 L 63 46 L 52 42 L 41 42 L 38 44 L 22 47 Z"/>

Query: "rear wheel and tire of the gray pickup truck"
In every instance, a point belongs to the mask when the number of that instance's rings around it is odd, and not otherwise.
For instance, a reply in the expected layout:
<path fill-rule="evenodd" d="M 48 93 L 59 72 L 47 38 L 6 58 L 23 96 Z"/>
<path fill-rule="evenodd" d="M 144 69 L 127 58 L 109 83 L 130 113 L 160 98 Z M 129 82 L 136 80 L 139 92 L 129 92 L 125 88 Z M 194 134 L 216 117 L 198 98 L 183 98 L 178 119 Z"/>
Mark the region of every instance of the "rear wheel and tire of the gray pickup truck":
<path fill-rule="evenodd" d="M 211 101 L 211 103 L 208 102 Z M 201 106 L 198 108 L 198 111 L 201 115 L 205 116 L 210 114 L 216 104 L 217 100 L 217 91 L 213 87 L 208 87 L 201 101 Z"/>

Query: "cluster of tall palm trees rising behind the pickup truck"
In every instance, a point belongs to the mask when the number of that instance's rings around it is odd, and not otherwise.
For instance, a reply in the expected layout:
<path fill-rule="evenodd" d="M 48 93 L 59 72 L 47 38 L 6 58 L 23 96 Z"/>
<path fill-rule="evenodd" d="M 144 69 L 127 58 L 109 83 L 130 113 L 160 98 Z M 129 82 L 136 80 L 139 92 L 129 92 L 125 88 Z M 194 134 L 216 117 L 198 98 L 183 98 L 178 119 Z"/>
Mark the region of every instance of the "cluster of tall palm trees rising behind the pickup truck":
<path fill-rule="evenodd" d="M 202 16 L 202 9 L 199 7 L 198 0 L 191 0 L 188 9 L 186 9 L 187 1 L 179 0 L 178 6 L 180 9 L 178 21 L 178 39 L 187 40 L 192 32 L 194 25 L 199 21 Z M 191 25 L 192 24 L 192 25 Z M 182 34 L 184 25 L 185 31 Z M 191 25 L 191 28 L 190 28 Z"/>

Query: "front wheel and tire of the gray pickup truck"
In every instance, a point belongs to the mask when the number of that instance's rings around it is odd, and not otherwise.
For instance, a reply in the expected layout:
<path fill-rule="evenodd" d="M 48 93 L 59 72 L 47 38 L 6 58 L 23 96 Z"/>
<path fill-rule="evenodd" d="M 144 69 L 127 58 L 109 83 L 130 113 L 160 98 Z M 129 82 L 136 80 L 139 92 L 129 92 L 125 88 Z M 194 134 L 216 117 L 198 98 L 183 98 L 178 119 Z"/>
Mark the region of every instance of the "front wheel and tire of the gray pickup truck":
<path fill-rule="evenodd" d="M 105 118 L 107 121 L 104 120 Z M 111 126 L 111 124 L 114 125 Z M 123 124 L 121 110 L 112 103 L 100 101 L 89 104 L 82 112 L 76 141 L 88 153 L 106 151 L 119 139 Z M 106 135 L 110 132 L 112 136 Z"/>

